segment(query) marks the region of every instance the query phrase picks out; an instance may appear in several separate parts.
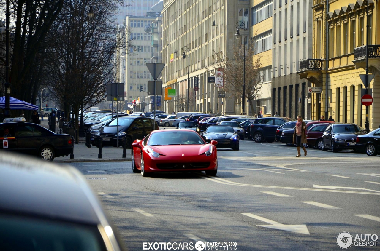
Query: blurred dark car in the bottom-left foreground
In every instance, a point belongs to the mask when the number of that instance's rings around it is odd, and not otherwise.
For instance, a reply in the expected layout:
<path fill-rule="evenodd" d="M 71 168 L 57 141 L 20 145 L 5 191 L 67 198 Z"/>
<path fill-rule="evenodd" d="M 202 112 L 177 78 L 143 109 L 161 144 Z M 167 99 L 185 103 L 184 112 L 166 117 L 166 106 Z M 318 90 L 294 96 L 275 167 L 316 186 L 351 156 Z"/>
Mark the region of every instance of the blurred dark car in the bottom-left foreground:
<path fill-rule="evenodd" d="M 123 250 L 78 170 L 13 154 L 0 163 L 2 251 Z"/>

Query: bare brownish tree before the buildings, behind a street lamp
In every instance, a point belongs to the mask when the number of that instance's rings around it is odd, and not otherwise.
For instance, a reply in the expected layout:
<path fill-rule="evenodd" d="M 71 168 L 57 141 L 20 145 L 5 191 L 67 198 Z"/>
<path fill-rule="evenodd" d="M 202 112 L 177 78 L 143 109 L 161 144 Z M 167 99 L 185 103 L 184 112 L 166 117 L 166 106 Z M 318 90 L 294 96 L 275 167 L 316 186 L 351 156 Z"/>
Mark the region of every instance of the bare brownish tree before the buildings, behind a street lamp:
<path fill-rule="evenodd" d="M 244 67 L 244 44 L 233 46 L 233 58 L 228 58 L 219 53 L 214 54 L 214 60 L 219 62 L 223 73 L 225 86 L 223 90 L 229 97 L 235 97 L 237 103 L 241 104 L 243 96 L 243 67 Z M 250 111 L 253 112 L 253 100 L 260 98 L 261 84 L 264 80 L 260 62 L 261 56 L 255 54 L 254 42 L 250 41 L 245 48 L 245 98 L 249 102 Z"/>

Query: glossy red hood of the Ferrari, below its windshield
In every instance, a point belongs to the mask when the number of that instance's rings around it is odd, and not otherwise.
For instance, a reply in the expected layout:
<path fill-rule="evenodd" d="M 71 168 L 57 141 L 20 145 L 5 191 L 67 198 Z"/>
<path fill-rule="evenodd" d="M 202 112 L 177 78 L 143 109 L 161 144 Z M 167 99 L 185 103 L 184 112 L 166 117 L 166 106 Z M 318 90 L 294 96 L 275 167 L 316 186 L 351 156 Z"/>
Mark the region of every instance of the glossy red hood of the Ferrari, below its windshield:
<path fill-rule="evenodd" d="M 149 146 L 153 151 L 166 156 L 198 156 L 209 149 L 209 144 L 198 145 L 170 145 L 170 146 Z"/>

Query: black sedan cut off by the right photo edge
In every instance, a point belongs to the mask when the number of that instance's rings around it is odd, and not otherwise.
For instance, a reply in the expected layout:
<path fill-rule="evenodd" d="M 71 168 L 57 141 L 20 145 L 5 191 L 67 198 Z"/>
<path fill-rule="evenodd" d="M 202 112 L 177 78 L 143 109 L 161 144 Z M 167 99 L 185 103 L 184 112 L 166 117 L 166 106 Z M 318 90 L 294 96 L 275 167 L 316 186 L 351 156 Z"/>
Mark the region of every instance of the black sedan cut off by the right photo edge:
<path fill-rule="evenodd" d="M 357 136 L 355 149 L 358 152 L 365 152 L 368 156 L 380 154 L 380 128 Z"/>

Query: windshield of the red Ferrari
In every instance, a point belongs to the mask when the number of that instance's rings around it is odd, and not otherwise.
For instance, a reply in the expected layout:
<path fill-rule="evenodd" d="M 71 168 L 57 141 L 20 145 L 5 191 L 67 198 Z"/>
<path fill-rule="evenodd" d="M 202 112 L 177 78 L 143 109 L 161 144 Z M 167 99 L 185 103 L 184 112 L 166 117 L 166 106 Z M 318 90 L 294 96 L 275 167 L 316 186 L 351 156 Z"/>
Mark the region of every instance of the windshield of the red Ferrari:
<path fill-rule="evenodd" d="M 203 139 L 196 132 L 186 130 L 155 132 L 150 135 L 148 140 L 149 146 L 168 146 L 182 144 L 204 144 Z"/>

